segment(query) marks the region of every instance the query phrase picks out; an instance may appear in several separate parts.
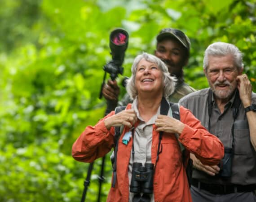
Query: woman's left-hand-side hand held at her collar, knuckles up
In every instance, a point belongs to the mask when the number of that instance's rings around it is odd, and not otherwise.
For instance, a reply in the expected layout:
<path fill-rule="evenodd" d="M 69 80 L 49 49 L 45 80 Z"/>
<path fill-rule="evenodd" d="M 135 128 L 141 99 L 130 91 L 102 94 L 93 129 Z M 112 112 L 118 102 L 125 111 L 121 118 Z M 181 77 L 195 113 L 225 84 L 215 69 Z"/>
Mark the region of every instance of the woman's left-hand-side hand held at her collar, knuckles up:
<path fill-rule="evenodd" d="M 110 116 L 104 120 L 106 128 L 109 130 L 115 126 L 128 126 L 132 127 L 137 122 L 137 115 L 134 110 L 123 110 L 118 114 Z"/>

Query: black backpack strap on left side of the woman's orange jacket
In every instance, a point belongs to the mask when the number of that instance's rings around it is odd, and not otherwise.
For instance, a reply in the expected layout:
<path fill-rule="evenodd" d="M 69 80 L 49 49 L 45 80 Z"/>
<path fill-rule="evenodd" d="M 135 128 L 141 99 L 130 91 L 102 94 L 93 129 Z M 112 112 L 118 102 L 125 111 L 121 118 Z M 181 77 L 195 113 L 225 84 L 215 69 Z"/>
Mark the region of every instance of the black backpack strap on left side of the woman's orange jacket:
<path fill-rule="evenodd" d="M 115 108 L 115 114 L 125 110 L 126 106 L 119 106 Z M 116 159 L 117 159 L 117 150 L 118 150 L 118 139 L 120 136 L 120 126 L 115 127 L 115 149 L 114 149 L 114 159 L 111 159 L 113 163 L 113 180 L 112 180 L 112 187 L 115 187 L 116 182 Z"/>

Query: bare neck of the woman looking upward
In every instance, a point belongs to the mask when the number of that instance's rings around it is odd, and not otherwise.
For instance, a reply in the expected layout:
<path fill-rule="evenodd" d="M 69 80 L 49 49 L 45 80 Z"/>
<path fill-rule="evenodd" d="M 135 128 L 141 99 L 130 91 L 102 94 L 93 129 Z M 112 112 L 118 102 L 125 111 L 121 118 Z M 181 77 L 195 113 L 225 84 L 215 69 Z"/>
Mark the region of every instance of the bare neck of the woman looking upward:
<path fill-rule="evenodd" d="M 163 94 L 159 93 L 157 96 L 138 96 L 138 110 L 141 118 L 148 122 L 154 114 L 157 113 L 161 105 Z"/>

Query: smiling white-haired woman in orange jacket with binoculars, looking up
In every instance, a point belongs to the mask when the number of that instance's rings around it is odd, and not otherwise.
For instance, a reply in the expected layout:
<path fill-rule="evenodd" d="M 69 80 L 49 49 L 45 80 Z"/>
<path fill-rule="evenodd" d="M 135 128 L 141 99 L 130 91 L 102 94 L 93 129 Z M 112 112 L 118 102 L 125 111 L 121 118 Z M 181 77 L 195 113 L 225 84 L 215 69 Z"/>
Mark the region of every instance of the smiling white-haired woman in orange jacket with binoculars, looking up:
<path fill-rule="evenodd" d="M 185 172 L 190 152 L 206 165 L 216 165 L 223 157 L 221 141 L 189 110 L 180 106 L 180 121 L 172 117 L 166 98 L 174 86 L 163 61 L 148 53 L 138 55 L 126 87 L 133 103 L 86 127 L 73 144 L 72 156 L 82 162 L 93 162 L 115 148 L 108 202 L 192 202 Z M 117 126 L 124 128 L 115 144 Z M 181 147 L 188 151 L 185 161 Z"/>

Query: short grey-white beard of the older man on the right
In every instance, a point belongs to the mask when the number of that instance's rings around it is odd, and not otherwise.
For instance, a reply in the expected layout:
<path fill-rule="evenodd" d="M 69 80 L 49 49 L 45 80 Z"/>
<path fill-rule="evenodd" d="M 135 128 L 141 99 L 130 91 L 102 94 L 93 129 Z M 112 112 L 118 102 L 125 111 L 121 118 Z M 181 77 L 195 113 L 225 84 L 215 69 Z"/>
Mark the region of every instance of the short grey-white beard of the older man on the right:
<path fill-rule="evenodd" d="M 220 85 L 220 84 L 227 85 L 229 87 L 229 89 L 228 90 L 225 90 L 225 89 L 217 90 L 216 86 Z M 227 99 L 227 98 L 231 97 L 231 95 L 233 94 L 235 88 L 237 87 L 237 82 L 234 81 L 233 83 L 230 83 L 229 81 L 225 81 L 225 82 L 216 81 L 212 85 L 209 83 L 209 85 L 212 88 L 212 92 L 214 93 L 214 95 L 217 98 L 219 98 L 219 99 Z"/>

